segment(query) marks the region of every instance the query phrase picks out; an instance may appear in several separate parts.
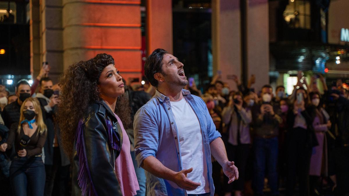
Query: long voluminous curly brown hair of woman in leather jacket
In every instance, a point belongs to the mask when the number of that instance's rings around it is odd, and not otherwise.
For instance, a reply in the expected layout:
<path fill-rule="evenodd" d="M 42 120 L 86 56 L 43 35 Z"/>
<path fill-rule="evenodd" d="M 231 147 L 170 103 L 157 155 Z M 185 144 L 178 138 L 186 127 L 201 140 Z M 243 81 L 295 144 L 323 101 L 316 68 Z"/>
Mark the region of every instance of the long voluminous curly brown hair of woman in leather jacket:
<path fill-rule="evenodd" d="M 58 107 L 57 121 L 61 130 L 62 146 L 70 158 L 74 143 L 75 131 L 79 120 L 85 115 L 87 108 L 99 97 L 99 76 L 103 69 L 114 65 L 114 59 L 109 54 L 97 54 L 88 61 L 80 61 L 69 66 L 60 78 L 61 103 Z M 131 123 L 131 108 L 128 99 L 121 95 L 117 98 L 114 112 L 120 117 L 125 129 Z"/>

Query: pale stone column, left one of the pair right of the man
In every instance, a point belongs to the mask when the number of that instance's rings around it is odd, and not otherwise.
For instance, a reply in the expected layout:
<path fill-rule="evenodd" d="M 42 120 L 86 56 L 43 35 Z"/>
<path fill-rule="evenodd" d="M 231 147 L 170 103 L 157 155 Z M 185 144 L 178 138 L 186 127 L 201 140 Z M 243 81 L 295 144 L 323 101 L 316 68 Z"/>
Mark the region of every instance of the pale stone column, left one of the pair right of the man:
<path fill-rule="evenodd" d="M 238 0 L 212 0 L 213 71 L 222 71 L 222 80 L 237 90 L 231 75 L 241 80 L 241 29 Z"/>

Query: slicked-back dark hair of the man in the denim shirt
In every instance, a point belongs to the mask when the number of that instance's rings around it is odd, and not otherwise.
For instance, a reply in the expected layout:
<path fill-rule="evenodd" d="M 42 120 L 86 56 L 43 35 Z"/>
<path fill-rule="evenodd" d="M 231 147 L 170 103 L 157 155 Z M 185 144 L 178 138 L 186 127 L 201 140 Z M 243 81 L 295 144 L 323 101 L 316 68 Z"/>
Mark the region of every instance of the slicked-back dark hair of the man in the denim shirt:
<path fill-rule="evenodd" d="M 153 51 L 153 53 L 150 54 L 150 56 L 147 58 L 146 62 L 144 63 L 144 75 L 146 75 L 147 79 L 149 80 L 150 84 L 157 87 L 158 81 L 154 78 L 155 73 L 163 73 L 162 71 L 162 59 L 164 54 L 168 53 L 164 49 L 157 48 Z"/>

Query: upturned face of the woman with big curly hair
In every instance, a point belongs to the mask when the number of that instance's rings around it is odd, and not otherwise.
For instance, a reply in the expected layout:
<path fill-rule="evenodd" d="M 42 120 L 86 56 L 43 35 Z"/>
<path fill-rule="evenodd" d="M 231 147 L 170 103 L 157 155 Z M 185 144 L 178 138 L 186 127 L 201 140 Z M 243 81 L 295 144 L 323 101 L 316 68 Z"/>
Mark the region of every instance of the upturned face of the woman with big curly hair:
<path fill-rule="evenodd" d="M 125 92 L 122 77 L 112 64 L 103 69 L 101 76 L 99 76 L 98 87 L 105 97 L 117 98 Z"/>

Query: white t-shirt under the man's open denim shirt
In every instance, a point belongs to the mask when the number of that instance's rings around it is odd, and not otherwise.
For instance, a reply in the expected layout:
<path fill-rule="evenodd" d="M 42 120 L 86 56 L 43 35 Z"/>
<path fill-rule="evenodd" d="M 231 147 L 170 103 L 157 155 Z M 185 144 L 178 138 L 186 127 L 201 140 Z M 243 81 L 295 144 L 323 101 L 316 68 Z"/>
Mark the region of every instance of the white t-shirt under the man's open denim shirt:
<path fill-rule="evenodd" d="M 199 119 L 184 98 L 179 101 L 171 101 L 171 108 L 178 131 L 182 168 L 193 167 L 193 171 L 187 174 L 187 178 L 201 183 L 198 188 L 187 191 L 187 193 L 208 193 L 210 187 Z"/>

